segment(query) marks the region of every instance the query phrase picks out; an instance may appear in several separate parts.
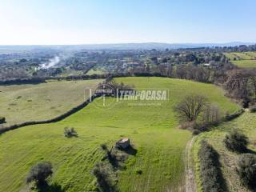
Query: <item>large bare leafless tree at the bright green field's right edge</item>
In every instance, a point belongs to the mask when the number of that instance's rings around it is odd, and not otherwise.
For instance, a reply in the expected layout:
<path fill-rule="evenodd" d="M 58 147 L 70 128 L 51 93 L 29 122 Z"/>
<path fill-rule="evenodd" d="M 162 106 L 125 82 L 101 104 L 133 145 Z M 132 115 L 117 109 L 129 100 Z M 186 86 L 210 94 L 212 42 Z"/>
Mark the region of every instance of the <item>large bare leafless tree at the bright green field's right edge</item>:
<path fill-rule="evenodd" d="M 190 95 L 182 99 L 174 110 L 178 113 L 182 120 L 187 122 L 194 122 L 197 120 L 199 114 L 202 113 L 207 104 L 207 99 L 202 95 Z"/>

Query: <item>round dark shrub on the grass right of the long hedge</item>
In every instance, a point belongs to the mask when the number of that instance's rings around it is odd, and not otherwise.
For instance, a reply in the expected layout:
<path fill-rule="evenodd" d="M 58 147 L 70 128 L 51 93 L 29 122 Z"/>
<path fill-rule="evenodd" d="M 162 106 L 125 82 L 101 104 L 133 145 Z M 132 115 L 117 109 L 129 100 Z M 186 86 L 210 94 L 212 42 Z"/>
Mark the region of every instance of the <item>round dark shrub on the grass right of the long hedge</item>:
<path fill-rule="evenodd" d="M 248 138 L 244 134 L 239 133 L 237 130 L 233 130 L 230 132 L 230 134 L 226 134 L 223 142 L 228 150 L 241 153 L 246 151 Z"/>

